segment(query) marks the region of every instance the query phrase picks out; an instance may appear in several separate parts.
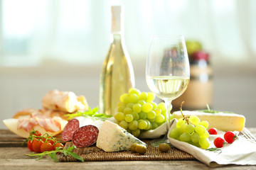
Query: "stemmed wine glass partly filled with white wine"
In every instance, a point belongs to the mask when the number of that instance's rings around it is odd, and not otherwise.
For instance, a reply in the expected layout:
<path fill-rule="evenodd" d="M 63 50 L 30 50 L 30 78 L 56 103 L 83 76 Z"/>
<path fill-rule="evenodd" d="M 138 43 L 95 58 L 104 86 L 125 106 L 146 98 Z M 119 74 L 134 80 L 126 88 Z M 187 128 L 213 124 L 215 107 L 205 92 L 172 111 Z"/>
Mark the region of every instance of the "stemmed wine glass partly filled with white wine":
<path fill-rule="evenodd" d="M 171 101 L 181 96 L 190 79 L 188 53 L 183 35 L 154 35 L 146 60 L 146 84 L 166 106 L 166 130 L 170 128 Z M 169 143 L 167 133 L 164 138 L 151 142 L 159 146 Z"/>

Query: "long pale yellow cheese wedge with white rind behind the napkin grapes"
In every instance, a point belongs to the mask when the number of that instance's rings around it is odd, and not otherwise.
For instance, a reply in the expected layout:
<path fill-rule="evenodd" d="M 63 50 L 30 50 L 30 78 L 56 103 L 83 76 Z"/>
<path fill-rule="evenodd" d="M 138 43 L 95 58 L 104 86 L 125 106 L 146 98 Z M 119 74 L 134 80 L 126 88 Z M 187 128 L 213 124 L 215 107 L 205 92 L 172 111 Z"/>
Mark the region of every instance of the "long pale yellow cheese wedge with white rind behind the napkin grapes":
<path fill-rule="evenodd" d="M 201 121 L 206 120 L 210 128 L 216 128 L 223 131 L 242 131 L 245 128 L 245 116 L 235 113 L 203 113 L 200 111 L 182 111 L 183 115 L 197 115 Z M 174 118 L 183 118 L 181 111 L 173 113 Z"/>

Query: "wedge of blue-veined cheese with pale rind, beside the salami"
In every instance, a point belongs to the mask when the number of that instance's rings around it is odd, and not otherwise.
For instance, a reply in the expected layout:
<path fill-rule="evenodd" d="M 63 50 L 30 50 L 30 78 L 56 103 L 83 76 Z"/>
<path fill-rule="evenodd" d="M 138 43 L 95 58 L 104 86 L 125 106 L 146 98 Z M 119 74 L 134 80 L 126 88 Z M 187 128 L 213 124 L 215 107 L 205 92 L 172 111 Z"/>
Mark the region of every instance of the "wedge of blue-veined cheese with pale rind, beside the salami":
<path fill-rule="evenodd" d="M 134 143 L 146 145 L 116 123 L 105 120 L 100 128 L 96 146 L 105 152 L 119 152 L 130 150 Z"/>

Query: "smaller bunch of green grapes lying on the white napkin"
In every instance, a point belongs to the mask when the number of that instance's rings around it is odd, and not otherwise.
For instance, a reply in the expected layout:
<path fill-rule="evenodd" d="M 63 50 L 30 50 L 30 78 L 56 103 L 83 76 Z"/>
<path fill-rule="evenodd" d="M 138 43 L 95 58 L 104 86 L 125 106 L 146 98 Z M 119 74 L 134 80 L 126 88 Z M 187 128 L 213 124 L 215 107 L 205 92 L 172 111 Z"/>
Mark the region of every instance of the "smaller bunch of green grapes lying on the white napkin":
<path fill-rule="evenodd" d="M 178 119 L 176 128 L 171 130 L 169 136 L 196 147 L 207 149 L 210 146 L 208 126 L 209 123 L 206 120 L 200 121 L 198 116 L 191 115 L 189 119 Z"/>

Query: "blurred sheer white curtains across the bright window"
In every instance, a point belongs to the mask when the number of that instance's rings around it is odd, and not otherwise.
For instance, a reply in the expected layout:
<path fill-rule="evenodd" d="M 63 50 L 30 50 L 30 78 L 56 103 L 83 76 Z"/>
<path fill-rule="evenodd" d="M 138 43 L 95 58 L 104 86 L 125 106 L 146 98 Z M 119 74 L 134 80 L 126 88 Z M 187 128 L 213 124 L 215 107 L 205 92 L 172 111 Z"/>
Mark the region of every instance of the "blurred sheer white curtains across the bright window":
<path fill-rule="evenodd" d="M 132 60 L 145 60 L 151 35 L 182 34 L 199 40 L 213 64 L 256 66 L 253 0 L 3 0 L 3 37 L 26 38 L 25 57 L 34 64 L 102 64 L 110 45 L 110 6 L 117 4 L 125 7 Z"/>

